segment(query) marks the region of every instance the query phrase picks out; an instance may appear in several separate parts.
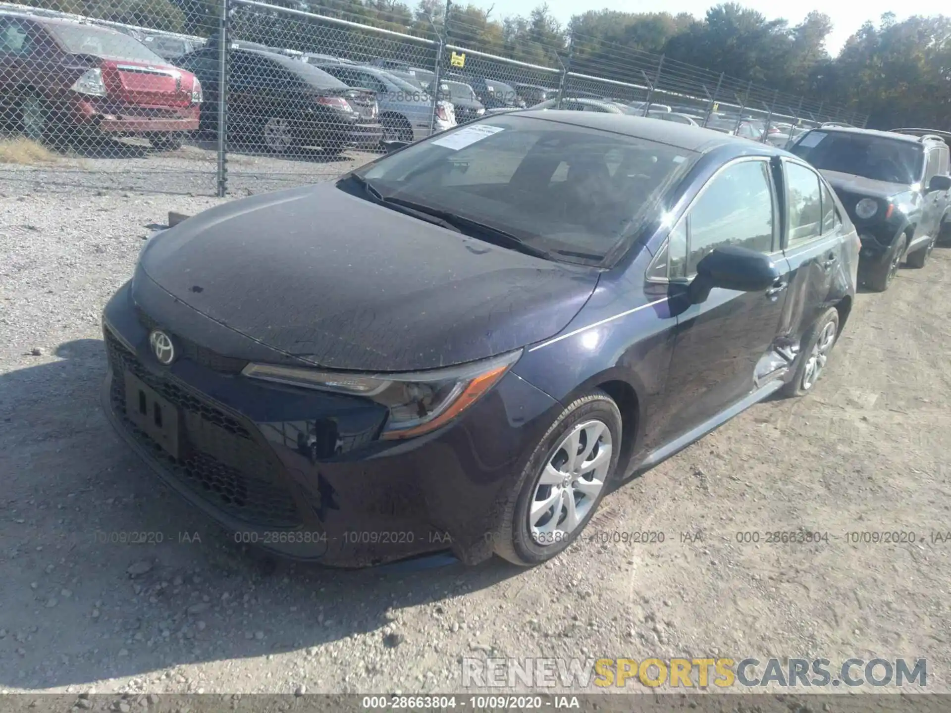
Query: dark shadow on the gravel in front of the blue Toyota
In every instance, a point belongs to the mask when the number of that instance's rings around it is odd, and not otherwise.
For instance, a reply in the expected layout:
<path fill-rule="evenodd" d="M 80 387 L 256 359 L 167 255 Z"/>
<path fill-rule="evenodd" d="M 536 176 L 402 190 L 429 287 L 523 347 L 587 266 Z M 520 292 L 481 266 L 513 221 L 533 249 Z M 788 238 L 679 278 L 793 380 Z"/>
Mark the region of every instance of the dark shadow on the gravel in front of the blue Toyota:
<path fill-rule="evenodd" d="M 432 605 L 438 618 L 441 600 L 523 571 L 500 560 L 333 570 L 236 545 L 113 434 L 99 406 L 102 341 L 54 354 L 0 374 L 0 687 L 152 678 L 355 634 L 398 648 L 412 634 L 401 608 Z M 464 623 L 454 635 L 473 636 Z"/>

